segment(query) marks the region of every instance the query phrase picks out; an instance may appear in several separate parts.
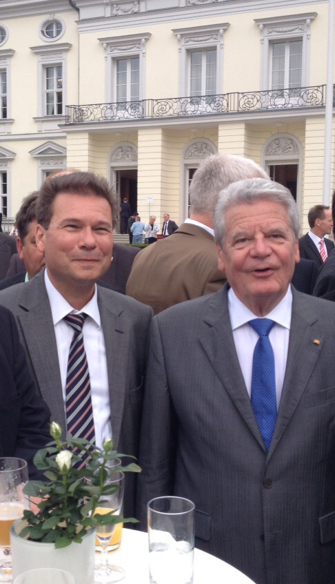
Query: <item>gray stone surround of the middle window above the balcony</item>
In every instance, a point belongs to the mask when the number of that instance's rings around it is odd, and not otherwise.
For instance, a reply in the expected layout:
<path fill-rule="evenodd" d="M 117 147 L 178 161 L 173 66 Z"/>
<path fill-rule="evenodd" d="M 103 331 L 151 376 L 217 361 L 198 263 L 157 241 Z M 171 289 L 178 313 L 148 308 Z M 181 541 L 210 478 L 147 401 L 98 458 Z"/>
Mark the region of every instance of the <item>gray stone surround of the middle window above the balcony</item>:
<path fill-rule="evenodd" d="M 179 97 L 190 97 L 190 53 L 216 48 L 216 93 L 223 94 L 223 38 L 230 23 L 174 28 L 179 43 Z"/>

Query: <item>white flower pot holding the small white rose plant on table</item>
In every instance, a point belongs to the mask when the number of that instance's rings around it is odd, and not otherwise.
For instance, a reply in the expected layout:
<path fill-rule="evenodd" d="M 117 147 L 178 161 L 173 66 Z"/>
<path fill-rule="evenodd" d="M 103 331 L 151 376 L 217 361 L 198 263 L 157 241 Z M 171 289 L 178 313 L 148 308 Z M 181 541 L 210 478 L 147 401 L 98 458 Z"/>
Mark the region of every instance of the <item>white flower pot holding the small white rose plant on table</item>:
<path fill-rule="evenodd" d="M 27 570 L 37 567 L 54 567 L 73 574 L 77 584 L 94 583 L 95 529 L 83 536 L 81 543 L 72 542 L 68 547 L 56 549 L 54 543 L 42 543 L 21 538 L 22 519 L 10 528 L 13 580 Z"/>

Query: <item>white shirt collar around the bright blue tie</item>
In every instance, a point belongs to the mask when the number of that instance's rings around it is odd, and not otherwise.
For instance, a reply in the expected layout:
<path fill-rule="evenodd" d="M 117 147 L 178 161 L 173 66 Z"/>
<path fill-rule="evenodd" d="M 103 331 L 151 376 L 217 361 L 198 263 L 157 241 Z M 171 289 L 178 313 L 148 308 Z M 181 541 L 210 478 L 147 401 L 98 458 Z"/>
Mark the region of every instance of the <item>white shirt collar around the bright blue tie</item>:
<path fill-rule="evenodd" d="M 230 314 L 230 322 L 232 324 L 232 330 L 242 327 L 253 318 L 260 318 L 258 315 L 254 314 L 250 309 L 237 298 L 234 290 L 232 288 L 228 291 L 228 309 Z M 265 315 L 265 318 L 270 318 L 274 320 L 277 324 L 281 324 L 285 329 L 291 327 L 291 317 L 292 317 L 292 290 L 291 286 L 288 287 L 287 293 L 284 298 L 277 304 L 274 309 Z"/>

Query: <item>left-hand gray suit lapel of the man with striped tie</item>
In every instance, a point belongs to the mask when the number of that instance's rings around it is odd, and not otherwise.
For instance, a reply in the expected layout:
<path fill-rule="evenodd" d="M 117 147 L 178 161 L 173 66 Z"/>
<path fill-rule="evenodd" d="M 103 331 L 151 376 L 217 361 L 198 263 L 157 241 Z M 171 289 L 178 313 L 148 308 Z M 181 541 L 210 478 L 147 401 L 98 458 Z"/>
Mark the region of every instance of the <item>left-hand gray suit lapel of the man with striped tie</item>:
<path fill-rule="evenodd" d="M 57 420 L 65 429 L 57 344 L 43 273 L 44 271 L 24 284 L 20 306 L 25 312 L 20 313 L 17 318 L 41 396 L 50 407 L 51 419 Z"/>

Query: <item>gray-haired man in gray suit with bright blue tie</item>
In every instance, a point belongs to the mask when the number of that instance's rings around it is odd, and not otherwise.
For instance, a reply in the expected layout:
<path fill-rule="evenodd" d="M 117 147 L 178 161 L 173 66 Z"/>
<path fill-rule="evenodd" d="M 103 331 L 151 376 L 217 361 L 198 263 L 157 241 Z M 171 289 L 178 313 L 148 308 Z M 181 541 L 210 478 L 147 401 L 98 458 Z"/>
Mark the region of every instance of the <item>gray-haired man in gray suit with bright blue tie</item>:
<path fill-rule="evenodd" d="M 150 498 L 190 498 L 196 546 L 256 584 L 335 574 L 335 306 L 290 286 L 298 230 L 287 188 L 228 186 L 214 231 L 230 285 L 157 315 L 150 338 L 142 525 Z"/>

